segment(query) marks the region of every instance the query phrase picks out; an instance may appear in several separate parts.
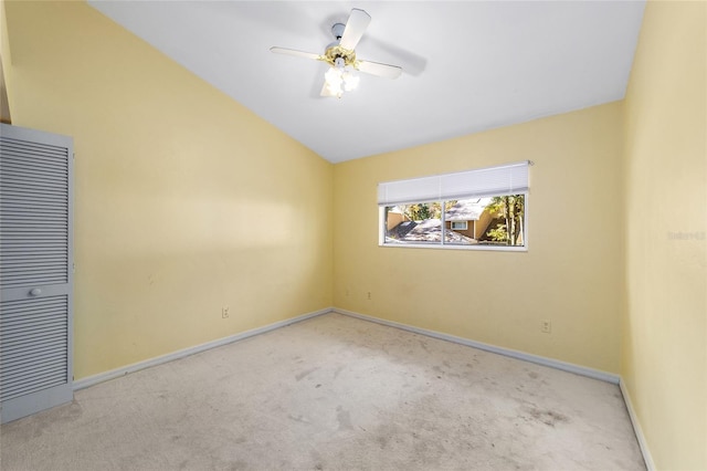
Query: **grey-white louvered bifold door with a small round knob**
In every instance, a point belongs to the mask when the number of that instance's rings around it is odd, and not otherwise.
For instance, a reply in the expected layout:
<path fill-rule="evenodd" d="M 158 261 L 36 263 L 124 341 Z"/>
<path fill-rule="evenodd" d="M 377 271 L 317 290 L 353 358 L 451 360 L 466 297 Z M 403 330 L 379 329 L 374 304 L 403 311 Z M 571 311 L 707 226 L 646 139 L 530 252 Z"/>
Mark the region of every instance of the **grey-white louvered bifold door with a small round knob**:
<path fill-rule="evenodd" d="M 73 142 L 1 125 L 0 415 L 73 398 Z"/>

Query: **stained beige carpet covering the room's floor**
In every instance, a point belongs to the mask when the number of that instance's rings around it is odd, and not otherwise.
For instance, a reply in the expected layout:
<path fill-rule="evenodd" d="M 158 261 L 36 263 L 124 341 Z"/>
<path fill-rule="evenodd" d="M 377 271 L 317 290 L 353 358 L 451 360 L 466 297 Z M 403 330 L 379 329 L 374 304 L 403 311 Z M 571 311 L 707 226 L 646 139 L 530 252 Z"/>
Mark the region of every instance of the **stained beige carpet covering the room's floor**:
<path fill-rule="evenodd" d="M 9 470 L 640 470 L 615 385 L 327 314 L 1 429 Z"/>

